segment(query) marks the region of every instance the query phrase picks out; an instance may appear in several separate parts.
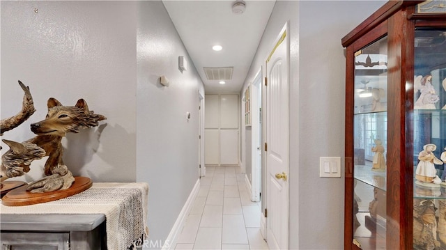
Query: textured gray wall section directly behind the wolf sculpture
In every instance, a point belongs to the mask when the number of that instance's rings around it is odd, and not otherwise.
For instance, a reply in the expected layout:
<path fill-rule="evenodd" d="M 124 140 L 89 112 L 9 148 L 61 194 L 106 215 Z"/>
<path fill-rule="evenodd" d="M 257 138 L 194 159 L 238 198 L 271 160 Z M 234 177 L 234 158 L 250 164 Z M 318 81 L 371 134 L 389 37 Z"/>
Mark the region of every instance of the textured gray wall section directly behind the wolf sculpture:
<path fill-rule="evenodd" d="M 17 80 L 29 86 L 37 109 L 2 138 L 35 136 L 29 125 L 45 118 L 49 97 L 68 106 L 84 98 L 89 109 L 107 120 L 63 139 L 66 165 L 93 182 L 134 181 L 135 7 L 121 1 L 1 1 L 1 118 L 21 108 Z M 25 179 L 40 178 L 43 164 L 33 162 Z"/>

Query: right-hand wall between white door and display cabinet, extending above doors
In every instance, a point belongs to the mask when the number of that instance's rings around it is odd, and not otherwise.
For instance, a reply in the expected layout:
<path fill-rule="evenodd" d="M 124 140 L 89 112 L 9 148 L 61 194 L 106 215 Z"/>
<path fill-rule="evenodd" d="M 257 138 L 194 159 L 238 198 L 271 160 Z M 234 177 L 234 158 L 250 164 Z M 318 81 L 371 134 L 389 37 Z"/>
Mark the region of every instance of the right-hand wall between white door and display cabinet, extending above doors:
<path fill-rule="evenodd" d="M 289 21 L 289 249 L 344 248 L 344 175 L 340 179 L 319 178 L 318 159 L 344 157 L 345 58 L 341 38 L 383 3 L 277 1 L 263 33 L 247 82 L 254 79 Z"/>

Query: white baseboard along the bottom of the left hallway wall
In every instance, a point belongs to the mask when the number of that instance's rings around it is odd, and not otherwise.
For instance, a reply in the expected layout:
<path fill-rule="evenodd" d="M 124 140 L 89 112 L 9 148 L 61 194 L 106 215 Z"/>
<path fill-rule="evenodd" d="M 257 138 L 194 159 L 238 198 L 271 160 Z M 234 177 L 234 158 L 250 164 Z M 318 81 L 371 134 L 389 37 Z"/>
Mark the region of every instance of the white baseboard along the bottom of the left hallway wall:
<path fill-rule="evenodd" d="M 183 226 L 185 224 L 187 214 L 189 214 L 192 209 L 192 205 L 194 204 L 195 198 L 197 198 L 198 192 L 200 190 L 200 179 L 195 183 L 194 189 L 190 192 L 189 198 L 187 198 L 186 203 L 183 206 L 178 218 L 176 218 L 174 227 L 171 229 L 169 236 L 167 236 L 166 241 L 162 246 L 162 250 L 175 249 L 176 240 L 183 230 Z"/>

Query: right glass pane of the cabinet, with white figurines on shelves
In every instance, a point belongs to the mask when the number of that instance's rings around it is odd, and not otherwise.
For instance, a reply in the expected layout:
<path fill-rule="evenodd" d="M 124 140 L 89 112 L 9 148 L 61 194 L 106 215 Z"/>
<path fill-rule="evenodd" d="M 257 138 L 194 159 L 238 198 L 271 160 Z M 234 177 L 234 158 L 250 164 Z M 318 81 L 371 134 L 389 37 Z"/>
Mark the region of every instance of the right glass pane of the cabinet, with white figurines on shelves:
<path fill-rule="evenodd" d="M 446 249 L 446 29 L 415 31 L 413 249 Z"/>

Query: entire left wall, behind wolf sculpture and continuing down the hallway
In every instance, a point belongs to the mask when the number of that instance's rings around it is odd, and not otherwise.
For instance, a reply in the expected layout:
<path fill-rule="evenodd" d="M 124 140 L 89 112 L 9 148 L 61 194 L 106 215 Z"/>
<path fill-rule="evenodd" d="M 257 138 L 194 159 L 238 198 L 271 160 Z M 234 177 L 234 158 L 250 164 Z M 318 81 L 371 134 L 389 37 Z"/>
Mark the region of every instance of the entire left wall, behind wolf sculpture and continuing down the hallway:
<path fill-rule="evenodd" d="M 189 61 L 183 73 L 178 56 Z M 93 182 L 148 182 L 148 240 L 160 248 L 198 180 L 199 91 L 204 96 L 162 2 L 1 1 L 1 65 L 1 118 L 21 108 L 18 79 L 37 109 L 2 139 L 34 136 L 29 124 L 45 118 L 48 97 L 67 105 L 84 98 L 107 120 L 68 134 L 66 165 Z M 34 163 L 38 178 L 44 163 Z"/>

